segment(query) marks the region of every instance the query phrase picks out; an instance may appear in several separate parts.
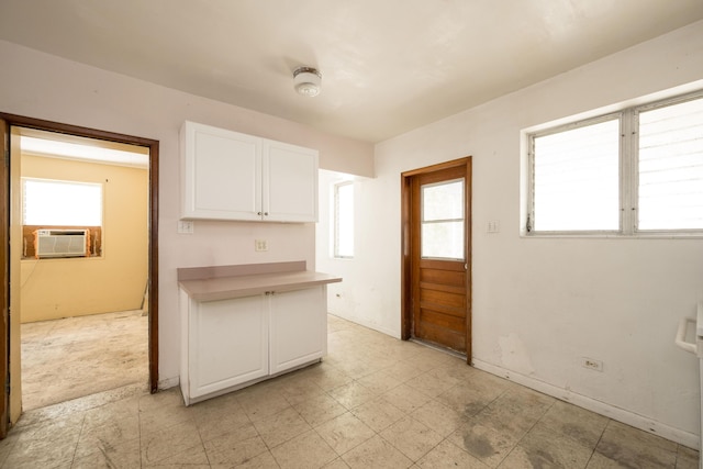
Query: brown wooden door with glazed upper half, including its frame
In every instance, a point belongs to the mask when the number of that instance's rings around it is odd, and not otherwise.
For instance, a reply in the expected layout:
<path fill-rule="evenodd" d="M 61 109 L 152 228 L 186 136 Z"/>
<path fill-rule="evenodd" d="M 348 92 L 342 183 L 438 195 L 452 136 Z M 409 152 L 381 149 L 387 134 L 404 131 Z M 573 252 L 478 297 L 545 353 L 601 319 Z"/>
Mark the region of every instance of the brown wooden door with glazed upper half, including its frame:
<path fill-rule="evenodd" d="M 470 158 L 403 174 L 403 336 L 467 355 Z"/>

